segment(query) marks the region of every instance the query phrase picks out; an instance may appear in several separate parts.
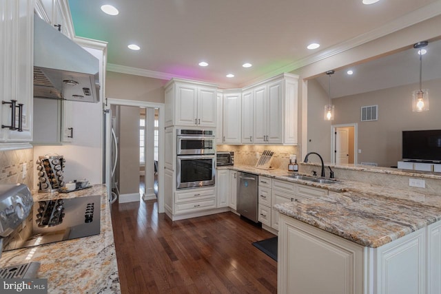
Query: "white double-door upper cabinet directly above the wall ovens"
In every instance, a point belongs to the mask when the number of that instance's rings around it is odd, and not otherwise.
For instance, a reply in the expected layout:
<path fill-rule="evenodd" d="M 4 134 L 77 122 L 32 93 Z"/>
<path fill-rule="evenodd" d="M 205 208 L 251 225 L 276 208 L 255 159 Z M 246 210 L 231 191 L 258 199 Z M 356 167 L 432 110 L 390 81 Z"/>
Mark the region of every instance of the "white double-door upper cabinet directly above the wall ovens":
<path fill-rule="evenodd" d="M 216 127 L 217 87 L 178 78 L 165 86 L 165 125 Z"/>

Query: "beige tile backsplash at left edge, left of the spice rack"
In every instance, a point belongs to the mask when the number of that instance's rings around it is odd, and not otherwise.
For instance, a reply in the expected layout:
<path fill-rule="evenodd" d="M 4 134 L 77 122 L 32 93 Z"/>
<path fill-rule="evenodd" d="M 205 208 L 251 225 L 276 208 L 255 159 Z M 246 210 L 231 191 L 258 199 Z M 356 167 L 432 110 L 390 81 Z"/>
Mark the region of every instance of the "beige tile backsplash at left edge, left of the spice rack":
<path fill-rule="evenodd" d="M 33 189 L 34 151 L 30 149 L 0 151 L 0 184 L 25 184 Z M 26 173 L 23 178 L 23 164 Z"/>

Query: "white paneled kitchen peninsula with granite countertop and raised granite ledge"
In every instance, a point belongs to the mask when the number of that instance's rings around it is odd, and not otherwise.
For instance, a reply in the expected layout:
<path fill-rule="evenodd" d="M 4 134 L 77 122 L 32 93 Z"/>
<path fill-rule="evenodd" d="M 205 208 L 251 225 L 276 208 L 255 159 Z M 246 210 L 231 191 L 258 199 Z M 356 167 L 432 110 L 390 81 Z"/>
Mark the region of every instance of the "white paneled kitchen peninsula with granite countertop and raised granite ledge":
<path fill-rule="evenodd" d="M 322 196 L 273 205 L 279 214 L 278 293 L 440 293 L 440 174 L 331 168 L 338 175 L 333 184 L 232 167 L 271 178 L 273 188 L 285 180 L 327 189 Z M 300 169 L 309 175 L 317 164 Z M 376 177 L 402 187 L 382 186 Z M 410 178 L 425 180 L 426 189 L 404 186 Z"/>

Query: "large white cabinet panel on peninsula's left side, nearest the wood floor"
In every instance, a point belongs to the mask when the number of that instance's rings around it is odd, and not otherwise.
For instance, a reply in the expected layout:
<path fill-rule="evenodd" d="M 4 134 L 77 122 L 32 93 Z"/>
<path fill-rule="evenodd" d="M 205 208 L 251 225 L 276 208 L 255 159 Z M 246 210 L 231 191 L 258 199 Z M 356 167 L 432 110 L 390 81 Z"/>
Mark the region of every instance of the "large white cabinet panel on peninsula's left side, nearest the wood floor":
<path fill-rule="evenodd" d="M 363 252 L 356 243 L 281 216 L 278 293 L 363 293 Z"/>

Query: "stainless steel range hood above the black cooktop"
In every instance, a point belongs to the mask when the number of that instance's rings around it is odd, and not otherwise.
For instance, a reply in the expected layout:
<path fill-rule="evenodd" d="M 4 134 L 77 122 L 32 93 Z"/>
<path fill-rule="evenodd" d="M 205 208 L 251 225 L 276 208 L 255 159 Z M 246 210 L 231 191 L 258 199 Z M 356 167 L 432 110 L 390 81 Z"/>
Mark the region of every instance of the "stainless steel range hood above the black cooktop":
<path fill-rule="evenodd" d="M 99 102 L 99 60 L 34 17 L 34 97 Z"/>

